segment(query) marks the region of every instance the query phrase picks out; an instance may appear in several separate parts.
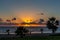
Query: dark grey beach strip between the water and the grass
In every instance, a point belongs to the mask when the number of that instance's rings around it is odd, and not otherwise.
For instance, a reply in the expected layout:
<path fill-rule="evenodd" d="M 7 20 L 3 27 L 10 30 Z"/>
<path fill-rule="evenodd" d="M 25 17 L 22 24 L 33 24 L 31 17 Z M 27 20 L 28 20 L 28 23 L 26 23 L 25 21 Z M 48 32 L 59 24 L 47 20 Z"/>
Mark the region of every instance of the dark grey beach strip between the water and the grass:
<path fill-rule="evenodd" d="M 42 36 L 44 36 L 44 37 L 46 37 L 46 36 L 50 36 L 50 35 L 56 35 L 56 34 L 58 34 L 59 36 L 60 36 L 60 33 L 55 33 L 55 34 L 52 34 L 52 33 L 43 33 L 43 34 L 26 34 L 26 36 L 25 37 L 42 37 Z M 18 36 L 16 36 L 15 34 L 0 34 L 0 38 L 10 38 L 10 37 L 20 37 L 19 35 Z"/>

